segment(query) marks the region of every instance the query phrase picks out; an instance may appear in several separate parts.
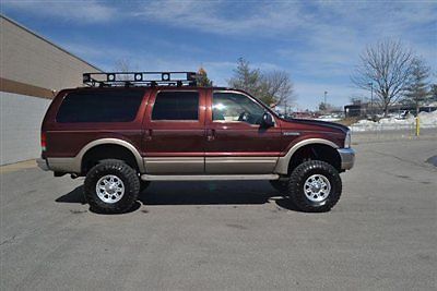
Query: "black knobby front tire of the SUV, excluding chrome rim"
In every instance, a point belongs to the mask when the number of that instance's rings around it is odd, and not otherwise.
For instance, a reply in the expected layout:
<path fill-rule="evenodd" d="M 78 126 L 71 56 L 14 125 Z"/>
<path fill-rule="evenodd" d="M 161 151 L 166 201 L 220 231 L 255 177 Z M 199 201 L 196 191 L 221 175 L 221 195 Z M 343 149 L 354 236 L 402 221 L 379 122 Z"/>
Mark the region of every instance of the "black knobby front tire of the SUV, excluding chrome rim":
<path fill-rule="evenodd" d="M 305 182 L 314 174 L 321 174 L 330 182 L 331 190 L 328 197 L 322 202 L 310 201 L 304 191 Z M 287 187 L 290 199 L 299 210 L 305 213 L 324 213 L 329 211 L 339 202 L 342 192 L 342 181 L 338 170 L 328 162 L 310 160 L 300 163 L 293 170 Z"/>

